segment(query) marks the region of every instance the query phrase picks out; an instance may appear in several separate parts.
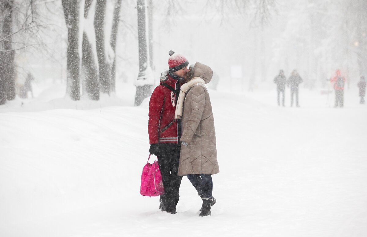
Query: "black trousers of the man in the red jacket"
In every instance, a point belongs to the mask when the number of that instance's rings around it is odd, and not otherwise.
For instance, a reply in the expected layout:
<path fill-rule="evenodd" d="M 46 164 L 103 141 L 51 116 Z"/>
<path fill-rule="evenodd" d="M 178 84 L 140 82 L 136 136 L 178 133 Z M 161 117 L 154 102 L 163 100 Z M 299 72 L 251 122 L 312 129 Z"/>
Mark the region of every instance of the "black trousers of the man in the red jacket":
<path fill-rule="evenodd" d="M 182 176 L 177 175 L 180 150 L 180 144 L 162 143 L 160 144 L 160 152 L 157 156 L 164 192 L 166 192 L 164 195 L 161 195 L 161 200 L 167 210 L 175 210 L 180 197 L 178 190 L 181 185 Z"/>

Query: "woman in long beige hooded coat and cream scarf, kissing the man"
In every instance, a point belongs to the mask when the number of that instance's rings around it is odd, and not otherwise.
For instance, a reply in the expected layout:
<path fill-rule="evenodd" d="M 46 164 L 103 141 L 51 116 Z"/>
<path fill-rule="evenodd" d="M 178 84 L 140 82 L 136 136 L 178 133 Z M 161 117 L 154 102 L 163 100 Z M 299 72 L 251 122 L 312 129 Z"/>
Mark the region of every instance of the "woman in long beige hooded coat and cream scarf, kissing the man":
<path fill-rule="evenodd" d="M 219 173 L 214 118 L 208 90 L 213 71 L 196 62 L 181 86 L 175 118 L 182 119 L 181 155 L 178 175 L 186 175 L 203 199 L 200 216 L 211 215 L 212 174 Z"/>

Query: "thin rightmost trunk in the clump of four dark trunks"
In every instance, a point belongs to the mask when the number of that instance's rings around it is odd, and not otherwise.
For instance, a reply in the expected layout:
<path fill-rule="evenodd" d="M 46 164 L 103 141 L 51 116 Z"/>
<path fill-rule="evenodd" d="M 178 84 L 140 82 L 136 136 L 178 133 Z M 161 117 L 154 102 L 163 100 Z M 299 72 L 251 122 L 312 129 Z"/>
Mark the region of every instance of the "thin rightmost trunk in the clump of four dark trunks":
<path fill-rule="evenodd" d="M 112 31 L 111 31 L 111 40 L 110 45 L 115 52 L 115 58 L 113 59 L 112 71 L 111 71 L 111 90 L 113 92 L 116 91 L 116 41 L 117 41 L 117 32 L 119 31 L 119 21 L 120 21 L 120 9 L 121 9 L 121 0 L 117 0 L 115 3 L 115 10 L 113 11 L 113 19 L 112 19 Z"/>

